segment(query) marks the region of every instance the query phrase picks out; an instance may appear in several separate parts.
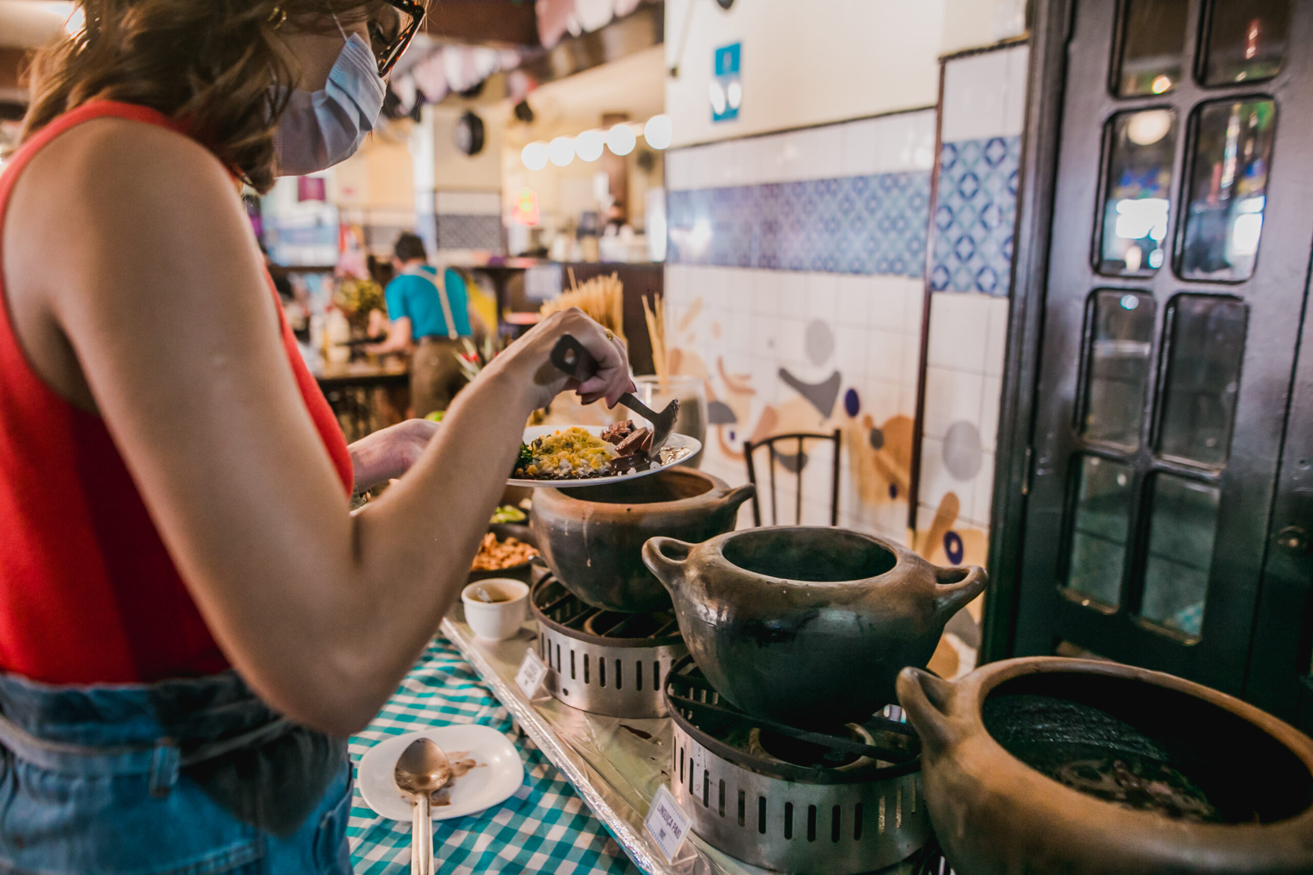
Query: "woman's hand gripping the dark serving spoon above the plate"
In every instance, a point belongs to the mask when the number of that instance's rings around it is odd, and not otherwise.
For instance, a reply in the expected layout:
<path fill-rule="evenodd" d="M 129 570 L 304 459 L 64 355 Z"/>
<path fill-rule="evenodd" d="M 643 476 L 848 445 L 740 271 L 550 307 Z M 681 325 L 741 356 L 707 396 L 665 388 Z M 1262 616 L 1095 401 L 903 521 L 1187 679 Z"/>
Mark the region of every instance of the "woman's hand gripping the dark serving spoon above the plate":
<path fill-rule="evenodd" d="M 572 335 L 597 359 L 597 373 L 583 383 L 551 363 L 551 348 L 562 335 Z M 488 370 L 515 374 L 533 386 L 536 408 L 546 407 L 557 395 L 576 390 L 584 404 L 599 399 L 614 407 L 625 392 L 634 391 L 629 379 L 629 352 L 625 341 L 584 315 L 578 307 L 554 312 L 492 359 Z"/>

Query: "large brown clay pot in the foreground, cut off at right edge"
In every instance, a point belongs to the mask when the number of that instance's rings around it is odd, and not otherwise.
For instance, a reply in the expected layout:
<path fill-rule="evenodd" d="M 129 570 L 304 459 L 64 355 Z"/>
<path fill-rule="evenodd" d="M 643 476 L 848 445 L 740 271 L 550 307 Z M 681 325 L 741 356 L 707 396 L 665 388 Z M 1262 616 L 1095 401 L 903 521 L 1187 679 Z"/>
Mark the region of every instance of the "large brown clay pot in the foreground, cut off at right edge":
<path fill-rule="evenodd" d="M 906 669 L 898 701 L 920 733 L 926 805 L 960 875 L 1313 871 L 1313 740 L 1224 693 L 1115 662 L 1028 657 L 955 683 Z M 1158 762 L 1207 796 L 1218 823 L 1091 795 L 1123 792 L 1096 765 L 1120 763 L 1123 781 L 1128 769 L 1155 771 L 1153 795 L 1137 799 L 1162 804 L 1171 773 Z"/>

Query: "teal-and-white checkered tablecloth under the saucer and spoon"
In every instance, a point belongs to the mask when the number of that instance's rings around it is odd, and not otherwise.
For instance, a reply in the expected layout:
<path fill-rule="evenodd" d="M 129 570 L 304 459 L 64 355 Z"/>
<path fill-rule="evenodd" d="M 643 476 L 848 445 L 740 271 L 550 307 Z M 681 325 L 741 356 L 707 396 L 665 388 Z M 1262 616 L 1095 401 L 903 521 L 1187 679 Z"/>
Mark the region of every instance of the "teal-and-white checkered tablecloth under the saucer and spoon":
<path fill-rule="evenodd" d="M 369 728 L 352 737 L 351 760 L 360 762 L 387 736 L 452 723 L 482 723 L 506 733 L 524 760 L 525 775 L 524 784 L 500 805 L 435 824 L 437 871 L 639 874 L 570 782 L 532 741 L 515 735 L 511 715 L 441 635 Z M 410 823 L 379 817 L 360 798 L 358 788 L 347 837 L 357 875 L 410 871 Z"/>

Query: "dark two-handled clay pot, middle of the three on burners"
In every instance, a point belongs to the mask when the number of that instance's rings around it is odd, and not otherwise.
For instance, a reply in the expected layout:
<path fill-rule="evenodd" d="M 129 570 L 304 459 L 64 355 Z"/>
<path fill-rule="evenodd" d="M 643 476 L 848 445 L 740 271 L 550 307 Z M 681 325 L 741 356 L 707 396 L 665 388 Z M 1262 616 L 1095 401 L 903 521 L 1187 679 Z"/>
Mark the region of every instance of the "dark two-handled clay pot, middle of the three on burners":
<path fill-rule="evenodd" d="M 985 572 L 936 568 L 873 535 L 747 529 L 700 544 L 653 538 L 643 560 L 671 592 L 689 653 L 743 711 L 796 727 L 860 722 L 926 665 Z"/>

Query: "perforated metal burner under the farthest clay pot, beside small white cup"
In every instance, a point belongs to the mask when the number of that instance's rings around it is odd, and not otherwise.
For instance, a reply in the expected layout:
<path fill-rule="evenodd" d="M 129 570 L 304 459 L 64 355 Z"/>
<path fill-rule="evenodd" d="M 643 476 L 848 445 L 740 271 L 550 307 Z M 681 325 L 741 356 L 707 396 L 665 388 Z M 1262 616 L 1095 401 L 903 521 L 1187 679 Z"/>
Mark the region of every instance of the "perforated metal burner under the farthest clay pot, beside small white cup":
<path fill-rule="evenodd" d="M 538 621 L 546 687 L 566 704 L 613 718 L 663 718 L 662 682 L 688 653 L 672 611 L 621 614 L 584 603 L 538 571 L 529 603 Z"/>

